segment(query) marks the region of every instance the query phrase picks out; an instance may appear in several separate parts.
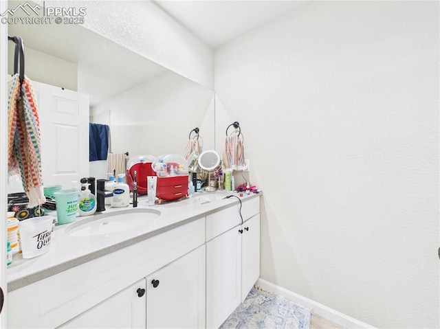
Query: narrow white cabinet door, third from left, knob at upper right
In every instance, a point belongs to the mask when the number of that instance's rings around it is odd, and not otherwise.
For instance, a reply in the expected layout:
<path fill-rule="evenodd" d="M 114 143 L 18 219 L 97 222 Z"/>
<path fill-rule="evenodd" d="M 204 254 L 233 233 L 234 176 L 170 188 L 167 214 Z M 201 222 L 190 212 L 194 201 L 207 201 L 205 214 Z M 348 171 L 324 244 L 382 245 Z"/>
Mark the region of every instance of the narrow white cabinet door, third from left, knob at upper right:
<path fill-rule="evenodd" d="M 239 227 L 206 243 L 206 328 L 219 326 L 241 302 Z"/>

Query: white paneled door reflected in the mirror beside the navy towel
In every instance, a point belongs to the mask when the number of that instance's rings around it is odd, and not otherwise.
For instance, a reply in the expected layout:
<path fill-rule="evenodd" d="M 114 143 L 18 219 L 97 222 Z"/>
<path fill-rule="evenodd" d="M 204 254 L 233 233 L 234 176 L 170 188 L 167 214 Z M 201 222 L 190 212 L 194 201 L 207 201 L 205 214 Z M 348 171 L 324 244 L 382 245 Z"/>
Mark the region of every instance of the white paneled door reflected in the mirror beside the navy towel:
<path fill-rule="evenodd" d="M 39 106 L 44 185 L 89 176 L 89 96 L 32 82 Z"/>

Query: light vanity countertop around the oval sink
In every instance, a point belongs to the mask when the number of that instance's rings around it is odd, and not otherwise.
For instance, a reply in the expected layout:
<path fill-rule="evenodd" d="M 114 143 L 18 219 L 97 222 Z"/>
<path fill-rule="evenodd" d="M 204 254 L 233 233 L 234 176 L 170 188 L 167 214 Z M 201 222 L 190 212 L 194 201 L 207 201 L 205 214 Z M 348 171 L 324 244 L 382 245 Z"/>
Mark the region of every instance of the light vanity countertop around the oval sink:
<path fill-rule="evenodd" d="M 8 277 L 8 292 L 14 291 L 28 284 L 32 284 L 46 277 L 55 275 L 74 266 L 107 255 L 124 247 L 151 238 L 164 231 L 189 223 L 213 212 L 219 211 L 230 205 L 239 204 L 237 198 L 215 198 L 213 194 L 238 196 L 236 193 L 217 191 L 192 194 L 190 198 L 179 201 L 162 203 L 161 205 L 147 205 L 145 196 L 141 196 L 136 208 L 131 205 L 124 208 L 107 206 L 105 212 L 93 216 L 77 217 L 73 223 L 57 226 L 52 232 L 50 251 L 36 258 L 23 259 L 20 253 L 15 253 L 12 264 L 6 271 Z M 242 202 L 250 198 L 259 197 L 261 194 L 250 194 L 240 197 Z M 78 226 L 79 222 L 91 221 L 102 218 L 102 214 L 118 212 L 142 212 L 142 209 L 156 209 L 161 214 L 157 218 L 146 220 L 145 225 L 120 231 L 117 234 L 102 234 L 97 236 L 71 236 L 69 231 Z"/>

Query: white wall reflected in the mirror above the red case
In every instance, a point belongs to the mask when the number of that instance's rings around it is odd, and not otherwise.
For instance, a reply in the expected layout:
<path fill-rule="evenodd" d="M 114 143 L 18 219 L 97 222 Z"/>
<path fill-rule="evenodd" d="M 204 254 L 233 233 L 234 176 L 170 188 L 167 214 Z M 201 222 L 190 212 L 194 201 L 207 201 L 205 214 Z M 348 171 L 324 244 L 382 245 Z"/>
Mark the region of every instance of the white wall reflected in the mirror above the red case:
<path fill-rule="evenodd" d="M 188 135 L 200 128 L 203 149 L 214 148 L 214 93 L 166 71 L 94 106 L 93 120 L 109 124 L 111 152 L 184 154 Z"/>

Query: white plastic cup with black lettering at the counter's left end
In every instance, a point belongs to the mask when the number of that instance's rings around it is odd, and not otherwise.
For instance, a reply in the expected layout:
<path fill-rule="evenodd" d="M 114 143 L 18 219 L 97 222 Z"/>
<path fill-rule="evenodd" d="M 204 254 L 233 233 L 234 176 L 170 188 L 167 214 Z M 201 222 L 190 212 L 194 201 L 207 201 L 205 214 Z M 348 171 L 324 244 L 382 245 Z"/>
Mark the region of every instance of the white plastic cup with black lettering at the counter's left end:
<path fill-rule="evenodd" d="M 34 258 L 49 251 L 53 221 L 53 216 L 21 220 L 19 231 L 23 258 Z"/>

